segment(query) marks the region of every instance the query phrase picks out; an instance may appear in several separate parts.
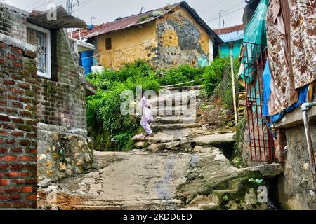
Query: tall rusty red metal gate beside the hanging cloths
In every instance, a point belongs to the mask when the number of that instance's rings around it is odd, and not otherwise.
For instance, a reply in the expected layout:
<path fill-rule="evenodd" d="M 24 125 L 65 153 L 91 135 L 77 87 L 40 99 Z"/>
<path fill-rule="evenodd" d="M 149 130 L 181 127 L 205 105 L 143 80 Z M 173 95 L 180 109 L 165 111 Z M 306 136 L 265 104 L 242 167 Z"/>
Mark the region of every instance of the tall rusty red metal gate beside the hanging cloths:
<path fill-rule="evenodd" d="M 251 162 L 274 162 L 274 141 L 268 126 L 270 119 L 263 117 L 263 70 L 267 49 L 263 45 L 244 42 L 242 55 L 250 159 Z"/>

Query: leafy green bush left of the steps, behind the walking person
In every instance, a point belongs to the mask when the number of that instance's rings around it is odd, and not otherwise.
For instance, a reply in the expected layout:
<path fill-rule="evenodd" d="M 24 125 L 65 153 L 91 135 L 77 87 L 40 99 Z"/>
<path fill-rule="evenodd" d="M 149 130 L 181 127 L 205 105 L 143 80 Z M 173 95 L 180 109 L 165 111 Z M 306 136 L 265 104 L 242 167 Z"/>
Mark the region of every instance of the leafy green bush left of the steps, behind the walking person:
<path fill-rule="evenodd" d="M 132 148 L 131 137 L 139 124 L 132 116 L 121 115 L 121 92 L 131 90 L 136 95 L 136 86 L 143 90 L 159 87 L 157 75 L 145 62 L 125 64 L 119 71 L 104 71 L 89 74 L 87 80 L 98 93 L 87 99 L 88 131 L 95 138 L 98 151 L 122 151 Z"/>

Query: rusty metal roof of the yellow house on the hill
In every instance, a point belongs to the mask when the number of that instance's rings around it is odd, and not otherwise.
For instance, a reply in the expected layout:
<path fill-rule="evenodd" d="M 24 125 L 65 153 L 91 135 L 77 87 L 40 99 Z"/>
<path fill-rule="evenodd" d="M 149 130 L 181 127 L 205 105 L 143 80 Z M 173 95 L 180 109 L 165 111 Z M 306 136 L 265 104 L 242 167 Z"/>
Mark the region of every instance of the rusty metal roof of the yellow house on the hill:
<path fill-rule="evenodd" d="M 91 30 L 82 30 L 81 38 L 92 38 L 102 34 L 110 33 L 112 31 L 143 25 L 147 22 L 156 20 L 157 18 L 166 15 L 167 13 L 172 12 L 178 6 L 183 6 L 183 8 L 185 8 L 192 15 L 192 17 L 199 22 L 199 25 L 201 25 L 202 28 L 205 29 L 210 36 L 213 36 L 216 39 L 216 42 L 218 44 L 223 43 L 223 41 L 217 36 L 217 34 L 208 25 L 206 25 L 206 22 L 204 22 L 202 18 L 200 18 L 199 15 L 197 15 L 195 10 L 193 10 L 185 1 L 173 4 L 171 6 L 166 6 L 164 8 L 159 8 L 157 10 L 151 10 L 146 13 L 131 15 L 126 18 L 119 18 L 117 20 L 114 20 L 113 22 L 107 22 L 103 25 L 97 25 Z M 79 32 L 77 31 L 72 33 L 72 37 L 79 38 Z"/>

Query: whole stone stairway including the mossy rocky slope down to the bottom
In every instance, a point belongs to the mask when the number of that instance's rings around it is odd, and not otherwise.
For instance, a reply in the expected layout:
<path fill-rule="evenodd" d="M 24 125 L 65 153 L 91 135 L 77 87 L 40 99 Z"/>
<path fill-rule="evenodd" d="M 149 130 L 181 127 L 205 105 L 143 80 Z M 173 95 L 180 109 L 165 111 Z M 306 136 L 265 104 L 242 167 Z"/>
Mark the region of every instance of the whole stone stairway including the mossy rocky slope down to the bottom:
<path fill-rule="evenodd" d="M 267 204 L 258 204 L 255 193 L 257 189 L 249 183 L 249 175 L 259 179 L 265 176 L 264 172 L 260 172 L 262 167 L 251 170 L 249 168 L 249 172 L 237 169 L 218 149 L 218 146 L 223 144 L 233 146 L 235 133 L 216 132 L 211 129 L 212 124 L 198 123 L 196 113 L 193 113 L 194 117 L 190 117 L 192 112 L 187 113 L 191 108 L 197 109 L 199 106 L 199 89 L 195 88 L 182 94 L 170 92 L 168 96 L 152 99 L 152 104 L 158 104 L 160 100 L 159 104 L 165 106 L 164 99 L 172 99 L 173 105 L 170 106 L 169 102 L 169 106 L 166 106 L 167 113 L 155 116 L 156 123 L 151 125 L 154 137 L 136 136 L 133 140 L 138 149 L 145 149 L 151 153 L 192 155 L 187 181 L 178 188 L 177 198 L 185 204 L 181 210 L 268 209 Z M 185 107 L 186 110 L 182 110 L 179 106 L 180 97 L 191 100 L 195 100 L 196 97 L 197 100 L 190 107 Z M 268 167 L 271 170 L 278 170 L 277 174 L 282 172 L 279 165 Z M 208 187 L 204 189 L 203 186 Z"/>

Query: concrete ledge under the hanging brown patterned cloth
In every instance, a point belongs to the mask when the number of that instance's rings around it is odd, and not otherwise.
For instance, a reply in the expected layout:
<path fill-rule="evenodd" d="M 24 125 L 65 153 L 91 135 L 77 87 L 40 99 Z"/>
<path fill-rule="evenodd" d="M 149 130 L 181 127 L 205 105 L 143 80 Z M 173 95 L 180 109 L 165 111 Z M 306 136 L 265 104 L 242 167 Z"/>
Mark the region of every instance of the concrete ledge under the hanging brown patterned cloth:
<path fill-rule="evenodd" d="M 310 116 L 310 120 L 316 120 L 316 107 L 312 107 L 308 111 L 308 115 Z M 303 125 L 303 113 L 301 108 L 298 108 L 291 113 L 287 113 L 282 120 L 280 120 L 276 124 L 276 128 L 278 129 L 284 129 L 289 127 L 294 127 L 297 125 Z"/>

